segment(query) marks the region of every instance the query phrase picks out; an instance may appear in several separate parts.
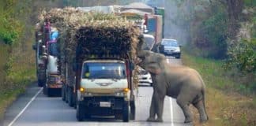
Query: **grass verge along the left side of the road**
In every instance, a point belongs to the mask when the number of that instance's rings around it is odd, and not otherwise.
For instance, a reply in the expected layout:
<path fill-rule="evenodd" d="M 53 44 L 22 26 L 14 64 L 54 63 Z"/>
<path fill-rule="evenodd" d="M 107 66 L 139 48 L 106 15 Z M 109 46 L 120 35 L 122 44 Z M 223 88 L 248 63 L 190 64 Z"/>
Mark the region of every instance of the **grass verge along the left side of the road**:
<path fill-rule="evenodd" d="M 6 48 L 6 46 L 1 45 L 1 48 Z M 28 84 L 36 80 L 35 53 L 32 50 L 32 42 L 13 47 L 12 50 L 11 52 L 0 50 L 1 55 L 6 56 L 0 57 L 0 72 L 3 76 L 0 78 L 0 120 L 6 108 L 24 92 Z"/>

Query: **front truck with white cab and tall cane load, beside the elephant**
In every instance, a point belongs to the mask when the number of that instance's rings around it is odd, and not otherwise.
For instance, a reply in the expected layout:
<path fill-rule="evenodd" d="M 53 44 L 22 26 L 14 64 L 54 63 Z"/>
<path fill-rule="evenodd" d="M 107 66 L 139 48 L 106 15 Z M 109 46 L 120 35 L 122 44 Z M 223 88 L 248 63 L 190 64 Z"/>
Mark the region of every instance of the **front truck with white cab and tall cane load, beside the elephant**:
<path fill-rule="evenodd" d="M 89 29 L 89 30 L 88 30 Z M 107 34 L 105 34 L 107 33 Z M 77 38 L 77 120 L 135 117 L 132 36 L 126 28 L 84 27 Z M 88 50 L 86 50 L 88 49 Z"/>

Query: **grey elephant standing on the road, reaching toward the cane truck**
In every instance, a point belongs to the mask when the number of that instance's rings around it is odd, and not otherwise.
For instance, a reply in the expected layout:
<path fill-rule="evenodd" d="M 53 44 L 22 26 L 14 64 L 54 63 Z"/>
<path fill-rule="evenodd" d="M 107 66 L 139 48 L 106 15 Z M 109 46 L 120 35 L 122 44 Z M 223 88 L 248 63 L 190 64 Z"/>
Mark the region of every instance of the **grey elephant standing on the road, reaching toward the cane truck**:
<path fill-rule="evenodd" d="M 196 70 L 185 66 L 171 66 L 164 54 L 149 50 L 139 50 L 137 57 L 141 58 L 138 65 L 152 76 L 153 95 L 147 121 L 163 121 L 166 95 L 176 98 L 177 104 L 183 109 L 184 123 L 193 121 L 190 104 L 198 109 L 201 123 L 209 119 L 205 109 L 205 83 Z"/>

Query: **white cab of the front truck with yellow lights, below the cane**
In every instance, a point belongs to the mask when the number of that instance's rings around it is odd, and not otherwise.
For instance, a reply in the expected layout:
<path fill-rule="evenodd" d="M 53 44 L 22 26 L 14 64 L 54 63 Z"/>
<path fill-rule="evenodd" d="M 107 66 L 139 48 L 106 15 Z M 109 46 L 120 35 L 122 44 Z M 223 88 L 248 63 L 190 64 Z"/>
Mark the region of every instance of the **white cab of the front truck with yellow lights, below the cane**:
<path fill-rule="evenodd" d="M 95 115 L 129 120 L 130 88 L 126 62 L 96 59 L 84 61 L 77 90 L 77 118 Z"/>

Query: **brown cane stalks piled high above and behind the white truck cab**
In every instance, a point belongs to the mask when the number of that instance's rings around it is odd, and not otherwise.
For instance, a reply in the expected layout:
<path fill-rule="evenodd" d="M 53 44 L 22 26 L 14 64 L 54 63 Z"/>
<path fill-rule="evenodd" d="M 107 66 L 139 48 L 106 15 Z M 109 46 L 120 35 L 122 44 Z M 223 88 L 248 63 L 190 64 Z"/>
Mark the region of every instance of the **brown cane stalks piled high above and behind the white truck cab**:
<path fill-rule="evenodd" d="M 61 72 L 65 63 L 72 66 L 93 55 L 128 56 L 130 60 L 136 57 L 139 30 L 133 22 L 115 14 L 87 13 L 67 7 L 43 11 L 39 19 L 41 26 L 49 21 L 60 33 L 58 64 Z"/>

